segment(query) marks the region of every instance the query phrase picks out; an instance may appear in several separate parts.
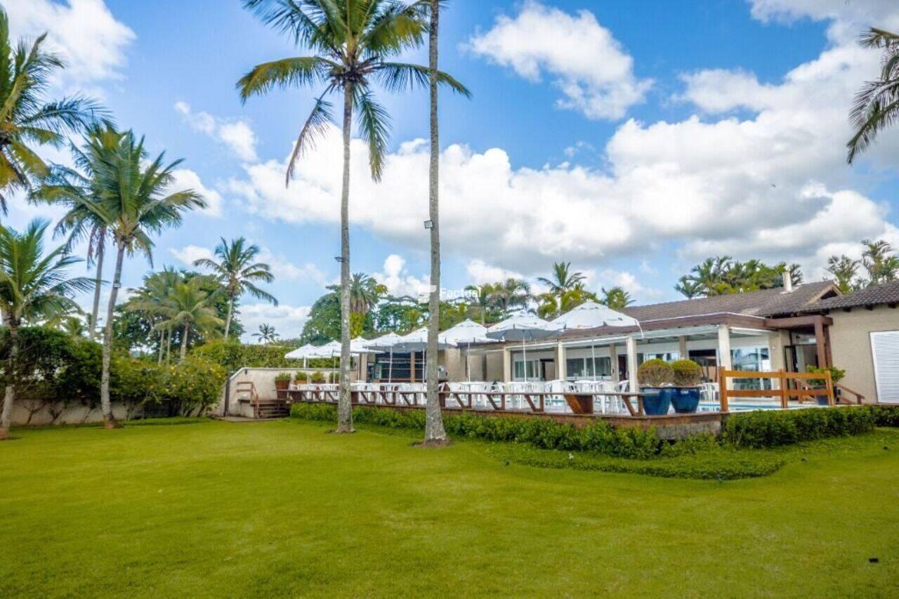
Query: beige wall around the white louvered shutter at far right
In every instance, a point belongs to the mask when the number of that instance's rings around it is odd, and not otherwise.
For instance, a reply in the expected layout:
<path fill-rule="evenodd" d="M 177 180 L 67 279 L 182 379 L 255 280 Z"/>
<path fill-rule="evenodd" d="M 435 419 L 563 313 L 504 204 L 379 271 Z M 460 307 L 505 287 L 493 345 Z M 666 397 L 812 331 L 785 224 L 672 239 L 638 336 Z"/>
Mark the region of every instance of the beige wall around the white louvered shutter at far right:
<path fill-rule="evenodd" d="M 851 312 L 837 310 L 828 316 L 833 318 L 830 330 L 833 365 L 846 371 L 841 383 L 861 393 L 865 401 L 876 401 L 870 333 L 899 330 L 899 309 L 852 308 Z"/>

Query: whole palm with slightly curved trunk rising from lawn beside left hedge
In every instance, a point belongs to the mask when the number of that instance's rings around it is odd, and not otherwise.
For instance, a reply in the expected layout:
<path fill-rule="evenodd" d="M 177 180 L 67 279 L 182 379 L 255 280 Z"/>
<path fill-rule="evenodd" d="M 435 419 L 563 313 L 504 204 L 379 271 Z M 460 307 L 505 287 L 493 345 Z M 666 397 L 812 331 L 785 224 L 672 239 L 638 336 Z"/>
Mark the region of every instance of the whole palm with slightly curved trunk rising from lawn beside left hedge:
<path fill-rule="evenodd" d="M 118 148 L 111 156 L 104 156 L 93 165 L 100 193 L 99 201 L 88 204 L 88 208 L 106 223 L 116 247 L 115 270 L 103 332 L 100 380 L 100 405 L 103 421 L 108 428 L 116 426 L 110 404 L 112 316 L 121 287 L 121 266 L 125 253 L 143 253 L 152 264 L 151 236 L 165 228 L 180 225 L 185 211 L 206 206 L 206 201 L 197 192 L 171 192 L 174 183 L 172 172 L 182 161 L 175 160 L 164 165 L 164 160 L 165 152 L 149 161 L 144 139 L 135 139 L 134 133 L 128 131 L 120 134 Z"/>

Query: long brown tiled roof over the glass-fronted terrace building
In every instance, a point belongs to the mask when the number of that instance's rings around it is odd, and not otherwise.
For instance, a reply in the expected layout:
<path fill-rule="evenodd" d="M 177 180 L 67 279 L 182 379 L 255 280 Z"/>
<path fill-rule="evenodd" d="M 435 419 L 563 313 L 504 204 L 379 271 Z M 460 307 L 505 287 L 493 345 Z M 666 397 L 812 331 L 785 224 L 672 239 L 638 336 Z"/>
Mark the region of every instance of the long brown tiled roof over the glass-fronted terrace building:
<path fill-rule="evenodd" d="M 793 291 L 783 288 L 746 291 L 709 298 L 681 299 L 648 306 L 628 306 L 621 311 L 641 323 L 668 318 L 698 317 L 708 314 L 737 314 L 747 317 L 772 317 L 802 311 L 809 303 L 839 293 L 829 281 L 797 285 Z"/>

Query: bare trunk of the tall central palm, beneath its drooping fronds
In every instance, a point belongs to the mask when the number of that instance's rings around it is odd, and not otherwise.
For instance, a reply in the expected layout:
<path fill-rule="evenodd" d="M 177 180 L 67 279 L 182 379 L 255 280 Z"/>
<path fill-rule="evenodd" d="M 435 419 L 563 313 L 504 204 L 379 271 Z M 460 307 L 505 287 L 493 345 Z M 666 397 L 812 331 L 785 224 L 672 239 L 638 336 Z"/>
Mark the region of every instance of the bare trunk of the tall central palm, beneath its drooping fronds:
<path fill-rule="evenodd" d="M 352 83 L 343 87 L 343 190 L 340 200 L 340 399 L 337 433 L 352 433 L 350 400 L 350 128 Z"/>

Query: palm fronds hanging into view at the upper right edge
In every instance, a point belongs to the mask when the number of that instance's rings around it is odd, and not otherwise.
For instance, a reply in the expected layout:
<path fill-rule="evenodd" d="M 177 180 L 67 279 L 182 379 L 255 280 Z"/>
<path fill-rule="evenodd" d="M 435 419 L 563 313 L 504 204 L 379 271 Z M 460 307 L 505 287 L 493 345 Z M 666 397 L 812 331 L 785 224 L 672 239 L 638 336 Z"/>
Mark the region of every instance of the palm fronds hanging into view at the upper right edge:
<path fill-rule="evenodd" d="M 899 120 L 899 34 L 872 27 L 861 36 L 865 48 L 883 49 L 880 74 L 862 85 L 855 96 L 850 120 L 856 133 L 846 144 L 849 164 L 877 138 L 877 134 Z"/>

